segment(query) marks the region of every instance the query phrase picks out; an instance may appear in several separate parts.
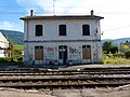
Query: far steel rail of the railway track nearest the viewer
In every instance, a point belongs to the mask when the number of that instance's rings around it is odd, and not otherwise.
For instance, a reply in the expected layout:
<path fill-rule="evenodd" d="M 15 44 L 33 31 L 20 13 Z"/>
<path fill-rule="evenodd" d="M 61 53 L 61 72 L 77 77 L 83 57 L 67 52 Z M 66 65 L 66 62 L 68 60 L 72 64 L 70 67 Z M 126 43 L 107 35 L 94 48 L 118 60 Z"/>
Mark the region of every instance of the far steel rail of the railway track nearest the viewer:
<path fill-rule="evenodd" d="M 15 78 L 15 79 L 0 79 L 0 82 L 17 82 L 17 81 L 105 81 L 105 80 L 130 80 L 130 77 L 92 77 L 92 78 L 38 78 L 38 79 L 30 79 L 30 78 Z"/>

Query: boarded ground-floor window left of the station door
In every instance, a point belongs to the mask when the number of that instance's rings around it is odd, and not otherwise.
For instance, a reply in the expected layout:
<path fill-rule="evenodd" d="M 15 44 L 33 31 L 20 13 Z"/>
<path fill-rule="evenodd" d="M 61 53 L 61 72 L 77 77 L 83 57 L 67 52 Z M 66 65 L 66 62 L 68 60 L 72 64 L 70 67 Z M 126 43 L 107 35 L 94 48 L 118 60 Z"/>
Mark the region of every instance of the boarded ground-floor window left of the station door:
<path fill-rule="evenodd" d="M 43 46 L 35 46 L 35 60 L 43 60 Z"/>

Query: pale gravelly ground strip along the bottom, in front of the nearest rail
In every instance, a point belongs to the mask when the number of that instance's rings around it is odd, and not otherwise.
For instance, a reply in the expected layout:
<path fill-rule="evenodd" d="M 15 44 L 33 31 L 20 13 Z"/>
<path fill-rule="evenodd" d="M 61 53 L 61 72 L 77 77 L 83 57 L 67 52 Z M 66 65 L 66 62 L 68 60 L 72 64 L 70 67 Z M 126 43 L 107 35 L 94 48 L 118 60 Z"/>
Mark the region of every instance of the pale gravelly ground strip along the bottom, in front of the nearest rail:
<path fill-rule="evenodd" d="M 114 88 L 53 89 L 44 92 L 0 89 L 0 97 L 130 97 L 130 85 Z"/>

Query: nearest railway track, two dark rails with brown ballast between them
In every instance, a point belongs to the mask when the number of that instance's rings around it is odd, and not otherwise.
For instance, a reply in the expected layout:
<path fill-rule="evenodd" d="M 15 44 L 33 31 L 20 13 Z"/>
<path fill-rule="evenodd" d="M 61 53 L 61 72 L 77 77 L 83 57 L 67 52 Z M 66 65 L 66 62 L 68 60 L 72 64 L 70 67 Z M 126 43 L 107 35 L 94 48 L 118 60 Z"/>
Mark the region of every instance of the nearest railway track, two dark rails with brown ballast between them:
<path fill-rule="evenodd" d="M 130 84 L 130 78 L 60 78 L 60 79 L 2 79 L 0 87 L 15 88 L 81 88 Z"/>

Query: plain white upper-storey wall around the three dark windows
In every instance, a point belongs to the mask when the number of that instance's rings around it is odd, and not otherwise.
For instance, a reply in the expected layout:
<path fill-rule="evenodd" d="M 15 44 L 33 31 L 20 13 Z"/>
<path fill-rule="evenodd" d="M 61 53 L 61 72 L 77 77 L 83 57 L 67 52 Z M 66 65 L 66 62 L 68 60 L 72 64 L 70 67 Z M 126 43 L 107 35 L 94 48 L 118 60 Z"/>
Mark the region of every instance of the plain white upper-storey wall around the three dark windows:
<path fill-rule="evenodd" d="M 67 36 L 60 37 L 58 36 L 58 25 L 65 24 L 67 27 Z M 82 36 L 82 25 L 89 24 L 90 25 L 90 36 Z M 96 36 L 95 30 L 99 29 L 100 32 L 100 25 L 99 20 L 31 20 L 26 22 L 25 31 L 28 29 L 28 40 L 36 41 L 36 40 L 95 40 L 100 39 L 100 34 Z M 43 36 L 36 37 L 35 36 L 35 26 L 36 25 L 43 25 Z M 26 34 L 26 33 L 25 33 Z M 52 36 L 50 36 L 52 34 Z M 27 40 L 27 36 L 25 36 L 25 40 Z"/>

